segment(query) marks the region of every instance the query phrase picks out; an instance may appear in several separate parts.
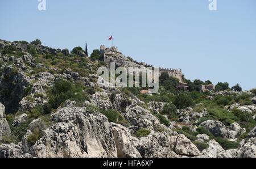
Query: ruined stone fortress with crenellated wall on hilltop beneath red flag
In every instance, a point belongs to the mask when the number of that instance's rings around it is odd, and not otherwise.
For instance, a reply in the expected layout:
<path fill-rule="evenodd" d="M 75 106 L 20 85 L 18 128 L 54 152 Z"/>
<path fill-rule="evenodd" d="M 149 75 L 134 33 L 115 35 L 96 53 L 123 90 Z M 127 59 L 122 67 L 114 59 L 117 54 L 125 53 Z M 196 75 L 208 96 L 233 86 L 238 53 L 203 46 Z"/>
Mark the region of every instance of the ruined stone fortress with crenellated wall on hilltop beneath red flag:
<path fill-rule="evenodd" d="M 104 45 L 101 45 L 100 54 L 104 55 L 104 62 L 108 67 L 110 66 L 111 62 L 114 62 L 117 66 L 123 67 L 154 67 L 146 64 L 145 62 L 137 62 L 130 57 L 124 56 L 118 51 L 117 47 L 105 48 Z M 164 69 L 163 67 L 159 67 L 159 75 L 161 75 L 163 72 L 168 73 L 170 77 L 179 79 L 180 82 L 183 81 L 181 69 Z"/>

